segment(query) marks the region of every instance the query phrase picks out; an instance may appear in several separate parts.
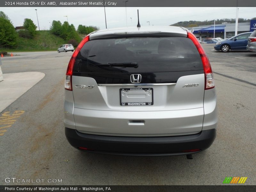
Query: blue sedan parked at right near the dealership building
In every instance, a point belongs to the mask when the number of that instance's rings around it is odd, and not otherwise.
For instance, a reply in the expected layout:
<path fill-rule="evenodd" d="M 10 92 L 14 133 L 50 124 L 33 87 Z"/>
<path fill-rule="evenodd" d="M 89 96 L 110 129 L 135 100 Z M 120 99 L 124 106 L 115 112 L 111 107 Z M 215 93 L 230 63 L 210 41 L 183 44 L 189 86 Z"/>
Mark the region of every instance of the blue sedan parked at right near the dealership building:
<path fill-rule="evenodd" d="M 230 39 L 219 41 L 214 45 L 214 49 L 222 52 L 229 52 L 229 50 L 246 50 L 248 37 L 252 32 L 241 33 Z"/>

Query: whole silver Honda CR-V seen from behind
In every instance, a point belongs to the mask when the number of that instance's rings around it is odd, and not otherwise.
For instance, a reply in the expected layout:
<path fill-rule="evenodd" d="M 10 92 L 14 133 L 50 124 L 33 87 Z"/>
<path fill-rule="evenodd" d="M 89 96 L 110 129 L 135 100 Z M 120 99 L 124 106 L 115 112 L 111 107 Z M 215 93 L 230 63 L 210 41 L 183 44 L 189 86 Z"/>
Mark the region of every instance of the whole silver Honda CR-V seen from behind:
<path fill-rule="evenodd" d="M 186 28 L 89 34 L 69 61 L 64 105 L 69 143 L 88 152 L 188 155 L 216 136 L 212 68 Z"/>

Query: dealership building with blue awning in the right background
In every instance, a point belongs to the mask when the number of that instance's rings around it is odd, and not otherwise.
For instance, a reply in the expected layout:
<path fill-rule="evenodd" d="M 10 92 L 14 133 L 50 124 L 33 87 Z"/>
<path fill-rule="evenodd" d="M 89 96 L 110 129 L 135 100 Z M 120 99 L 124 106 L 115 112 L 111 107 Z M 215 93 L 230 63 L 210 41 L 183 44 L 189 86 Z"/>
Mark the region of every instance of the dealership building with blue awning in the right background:
<path fill-rule="evenodd" d="M 235 36 L 235 23 L 223 23 L 215 25 L 204 25 L 193 28 L 188 28 L 199 40 L 207 38 L 213 38 L 215 32 L 215 38 L 227 38 Z M 237 34 L 253 31 L 256 29 L 256 20 L 250 22 L 238 23 Z"/>

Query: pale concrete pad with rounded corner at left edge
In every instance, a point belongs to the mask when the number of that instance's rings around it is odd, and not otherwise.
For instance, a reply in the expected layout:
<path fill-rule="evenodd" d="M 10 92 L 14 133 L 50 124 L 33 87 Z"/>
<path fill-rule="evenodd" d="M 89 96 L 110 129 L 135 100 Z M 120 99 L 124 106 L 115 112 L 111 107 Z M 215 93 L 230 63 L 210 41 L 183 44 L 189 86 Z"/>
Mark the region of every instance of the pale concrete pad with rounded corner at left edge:
<path fill-rule="evenodd" d="M 45 76 L 40 72 L 3 74 L 0 82 L 0 113 Z"/>

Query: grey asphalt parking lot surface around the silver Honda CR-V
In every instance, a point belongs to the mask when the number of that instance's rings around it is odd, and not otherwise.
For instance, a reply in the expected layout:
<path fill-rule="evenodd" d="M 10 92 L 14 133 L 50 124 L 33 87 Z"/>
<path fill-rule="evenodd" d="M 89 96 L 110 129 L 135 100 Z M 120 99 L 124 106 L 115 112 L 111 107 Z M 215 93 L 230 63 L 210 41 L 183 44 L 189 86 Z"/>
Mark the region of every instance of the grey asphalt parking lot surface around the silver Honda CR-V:
<path fill-rule="evenodd" d="M 63 125 L 64 78 L 73 52 L 4 57 L 4 74 L 42 72 L 45 76 L 0 113 L 0 118 L 17 115 L 0 136 L 0 185 L 29 184 L 6 183 L 5 178 L 11 177 L 41 179 L 33 183 L 40 185 L 221 185 L 228 176 L 247 177 L 244 185 L 254 185 L 256 52 L 222 53 L 213 50 L 213 44 L 202 46 L 214 72 L 219 121 L 214 143 L 194 154 L 193 160 L 76 150 L 66 140 Z M 0 130 L 4 126 L 0 123 Z M 48 179 L 51 182 L 45 182 Z"/>

